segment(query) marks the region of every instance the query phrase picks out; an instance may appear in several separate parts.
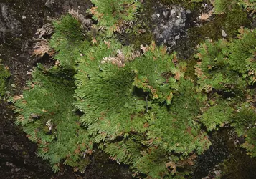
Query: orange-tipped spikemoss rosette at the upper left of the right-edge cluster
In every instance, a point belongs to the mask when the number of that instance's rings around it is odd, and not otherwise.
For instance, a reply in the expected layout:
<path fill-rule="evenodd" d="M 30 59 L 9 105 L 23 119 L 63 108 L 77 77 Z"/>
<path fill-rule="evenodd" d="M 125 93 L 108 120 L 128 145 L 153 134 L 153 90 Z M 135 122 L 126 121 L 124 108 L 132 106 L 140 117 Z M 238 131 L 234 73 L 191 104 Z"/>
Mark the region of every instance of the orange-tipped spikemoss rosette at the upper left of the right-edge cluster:
<path fill-rule="evenodd" d="M 222 39 L 212 42 L 208 39 L 199 46 L 195 57 L 200 60 L 195 66 L 197 82 L 206 92 L 215 89 L 234 93 L 245 89 L 246 82 L 230 65 L 229 42 Z"/>

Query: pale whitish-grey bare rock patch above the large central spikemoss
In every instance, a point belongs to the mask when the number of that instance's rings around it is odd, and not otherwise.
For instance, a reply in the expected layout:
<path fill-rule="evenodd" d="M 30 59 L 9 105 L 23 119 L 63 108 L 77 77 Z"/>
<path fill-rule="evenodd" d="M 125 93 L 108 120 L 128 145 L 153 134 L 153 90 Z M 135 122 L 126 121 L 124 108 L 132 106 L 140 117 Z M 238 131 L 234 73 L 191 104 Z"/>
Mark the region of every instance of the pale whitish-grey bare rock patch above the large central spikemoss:
<path fill-rule="evenodd" d="M 191 11 L 180 6 L 163 6 L 157 4 L 151 20 L 154 24 L 153 34 L 157 44 L 165 44 L 169 49 L 176 40 L 186 36 L 186 15 Z"/>

